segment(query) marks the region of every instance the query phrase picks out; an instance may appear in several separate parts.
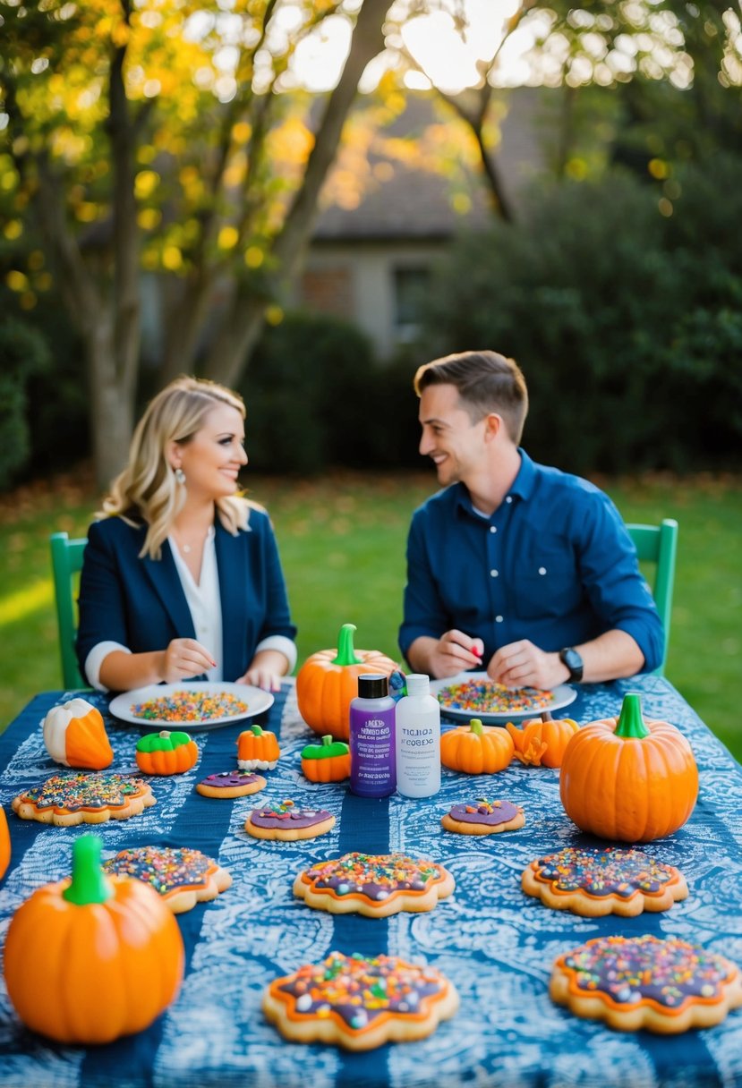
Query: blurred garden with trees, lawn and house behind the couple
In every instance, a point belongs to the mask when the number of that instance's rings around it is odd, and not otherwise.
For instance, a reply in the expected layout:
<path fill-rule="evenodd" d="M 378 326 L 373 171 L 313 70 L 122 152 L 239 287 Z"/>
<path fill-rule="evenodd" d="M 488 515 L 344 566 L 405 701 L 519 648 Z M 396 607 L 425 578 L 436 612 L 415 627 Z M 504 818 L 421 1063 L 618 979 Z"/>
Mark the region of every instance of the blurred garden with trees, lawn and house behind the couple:
<path fill-rule="evenodd" d="M 680 522 L 668 677 L 740 757 L 739 2 L 0 0 L 0 727 L 178 373 L 239 390 L 300 659 L 396 656 L 416 367 L 492 347 L 524 445 Z M 548 531 L 548 527 L 544 527 Z"/>

